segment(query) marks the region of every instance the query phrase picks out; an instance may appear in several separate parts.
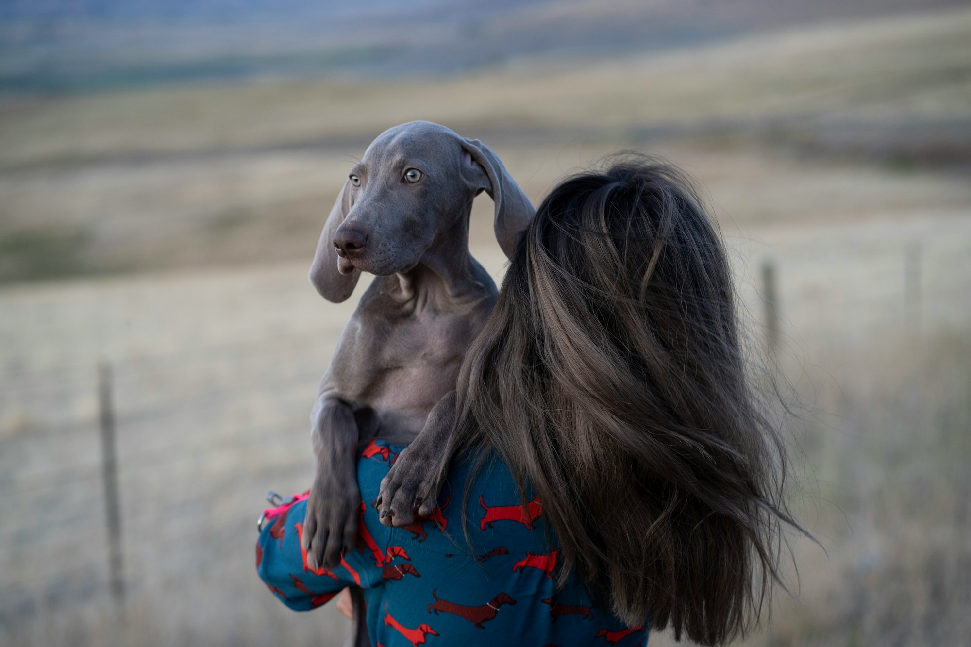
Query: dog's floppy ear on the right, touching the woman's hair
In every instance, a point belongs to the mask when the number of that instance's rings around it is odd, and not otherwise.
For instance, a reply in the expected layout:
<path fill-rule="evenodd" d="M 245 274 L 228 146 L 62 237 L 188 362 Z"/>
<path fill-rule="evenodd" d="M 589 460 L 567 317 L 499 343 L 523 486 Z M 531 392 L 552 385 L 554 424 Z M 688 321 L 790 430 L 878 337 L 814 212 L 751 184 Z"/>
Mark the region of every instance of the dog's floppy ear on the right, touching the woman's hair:
<path fill-rule="evenodd" d="M 467 178 L 478 188 L 485 188 L 495 203 L 495 239 L 507 258 L 516 251 L 519 234 L 526 228 L 536 214 L 533 204 L 522 192 L 509 171 L 502 165 L 499 157 L 478 139 L 460 138 L 462 148 L 471 155 L 472 160 L 485 171 L 485 178 Z M 467 172 L 462 167 L 463 174 Z M 474 173 L 471 175 L 475 175 Z"/>

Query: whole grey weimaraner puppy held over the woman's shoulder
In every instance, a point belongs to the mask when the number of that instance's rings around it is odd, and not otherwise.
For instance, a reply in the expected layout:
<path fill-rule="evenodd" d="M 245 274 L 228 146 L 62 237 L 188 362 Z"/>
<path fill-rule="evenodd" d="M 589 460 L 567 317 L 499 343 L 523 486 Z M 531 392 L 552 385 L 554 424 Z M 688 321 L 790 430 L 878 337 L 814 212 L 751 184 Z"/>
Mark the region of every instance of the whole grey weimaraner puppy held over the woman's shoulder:
<path fill-rule="evenodd" d="M 337 303 L 361 272 L 377 278 L 344 328 L 311 416 L 317 471 L 303 542 L 312 567 L 333 567 L 354 548 L 361 442 L 409 444 L 382 484 L 383 523 L 405 526 L 436 505 L 428 461 L 451 432 L 459 364 L 498 294 L 468 249 L 472 201 L 483 190 L 511 256 L 535 210 L 502 162 L 478 140 L 412 121 L 368 147 L 324 224 L 310 271 L 318 292 Z"/>

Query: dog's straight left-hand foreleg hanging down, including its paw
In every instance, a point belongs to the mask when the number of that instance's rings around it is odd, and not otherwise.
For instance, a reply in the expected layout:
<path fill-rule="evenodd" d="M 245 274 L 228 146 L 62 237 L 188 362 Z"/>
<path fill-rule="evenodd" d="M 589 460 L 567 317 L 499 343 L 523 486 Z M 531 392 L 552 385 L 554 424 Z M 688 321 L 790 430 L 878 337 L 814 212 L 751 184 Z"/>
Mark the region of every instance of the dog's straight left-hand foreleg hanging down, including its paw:
<path fill-rule="evenodd" d="M 311 437 L 317 471 L 307 500 L 303 543 L 312 568 L 334 568 L 350 553 L 357 535 L 360 491 L 354 453 L 358 430 L 351 407 L 321 394 L 314 408 Z"/>

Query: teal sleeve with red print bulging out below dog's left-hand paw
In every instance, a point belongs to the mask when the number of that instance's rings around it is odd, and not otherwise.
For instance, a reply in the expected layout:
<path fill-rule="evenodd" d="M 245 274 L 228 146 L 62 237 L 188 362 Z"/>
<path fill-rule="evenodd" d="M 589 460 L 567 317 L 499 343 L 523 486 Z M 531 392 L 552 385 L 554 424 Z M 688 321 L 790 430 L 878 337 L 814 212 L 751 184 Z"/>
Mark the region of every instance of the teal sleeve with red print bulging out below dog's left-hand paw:
<path fill-rule="evenodd" d="M 359 558 L 349 555 L 333 570 L 312 569 L 301 547 L 306 499 L 286 507 L 263 523 L 256 542 L 256 572 L 267 588 L 295 611 L 325 604 L 342 589 L 361 585 Z"/>

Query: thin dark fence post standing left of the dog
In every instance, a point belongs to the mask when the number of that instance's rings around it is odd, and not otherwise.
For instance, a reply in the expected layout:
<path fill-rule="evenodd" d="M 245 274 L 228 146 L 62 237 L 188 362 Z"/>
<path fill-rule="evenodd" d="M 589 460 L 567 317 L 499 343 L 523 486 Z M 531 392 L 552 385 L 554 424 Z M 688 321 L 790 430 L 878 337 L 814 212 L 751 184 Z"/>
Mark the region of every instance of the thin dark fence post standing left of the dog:
<path fill-rule="evenodd" d="M 121 508 L 118 498 L 115 410 L 112 404 L 112 367 L 98 365 L 98 408 L 101 422 L 101 473 L 105 486 L 105 519 L 108 524 L 108 577 L 117 609 L 124 603 L 124 572 L 121 551 Z"/>

